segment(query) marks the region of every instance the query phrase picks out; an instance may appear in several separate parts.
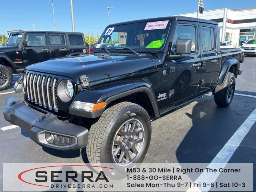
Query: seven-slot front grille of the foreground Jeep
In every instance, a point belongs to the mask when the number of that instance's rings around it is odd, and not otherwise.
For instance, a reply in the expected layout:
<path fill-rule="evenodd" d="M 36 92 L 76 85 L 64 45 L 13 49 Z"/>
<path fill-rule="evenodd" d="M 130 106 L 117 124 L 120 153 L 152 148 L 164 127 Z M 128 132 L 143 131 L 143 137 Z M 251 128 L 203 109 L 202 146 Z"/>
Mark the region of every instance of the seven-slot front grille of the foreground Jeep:
<path fill-rule="evenodd" d="M 58 79 L 44 74 L 26 73 L 26 94 L 28 101 L 58 111 L 57 104 Z"/>

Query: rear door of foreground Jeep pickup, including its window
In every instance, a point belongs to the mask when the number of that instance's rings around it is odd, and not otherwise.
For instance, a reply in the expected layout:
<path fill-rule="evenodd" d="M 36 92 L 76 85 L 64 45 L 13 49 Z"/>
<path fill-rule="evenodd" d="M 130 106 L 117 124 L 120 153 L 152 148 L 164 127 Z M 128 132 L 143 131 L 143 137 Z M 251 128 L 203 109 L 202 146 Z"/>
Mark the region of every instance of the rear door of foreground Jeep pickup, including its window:
<path fill-rule="evenodd" d="M 200 91 L 214 88 L 219 71 L 220 52 L 217 51 L 215 25 L 199 23 L 202 52 Z"/>

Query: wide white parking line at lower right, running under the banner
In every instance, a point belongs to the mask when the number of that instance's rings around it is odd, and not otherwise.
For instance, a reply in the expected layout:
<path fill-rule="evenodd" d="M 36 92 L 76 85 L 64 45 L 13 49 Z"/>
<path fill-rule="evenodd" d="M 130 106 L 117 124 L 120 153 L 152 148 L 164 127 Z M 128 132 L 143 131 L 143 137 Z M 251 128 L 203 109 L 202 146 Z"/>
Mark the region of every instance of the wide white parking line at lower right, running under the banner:
<path fill-rule="evenodd" d="M 248 118 L 244 121 L 244 123 L 238 128 L 238 130 L 236 130 L 234 135 L 228 140 L 228 142 L 224 145 L 224 147 L 220 150 L 220 152 L 215 156 L 212 162 L 208 165 L 208 168 L 210 168 L 211 164 L 214 164 L 214 163 L 221 163 L 222 168 L 224 168 L 255 122 L 256 122 L 256 109 L 254 109 L 254 111 L 250 114 L 250 116 L 248 116 Z M 196 179 L 195 182 L 196 183 L 215 182 L 219 174 L 220 172 L 216 172 L 214 175 L 203 172 Z M 206 186 L 206 188 L 200 188 L 200 190 L 209 191 L 210 188 L 211 188 L 210 186 Z M 193 191 L 193 190 L 194 190 L 193 188 L 190 188 L 187 191 Z"/>

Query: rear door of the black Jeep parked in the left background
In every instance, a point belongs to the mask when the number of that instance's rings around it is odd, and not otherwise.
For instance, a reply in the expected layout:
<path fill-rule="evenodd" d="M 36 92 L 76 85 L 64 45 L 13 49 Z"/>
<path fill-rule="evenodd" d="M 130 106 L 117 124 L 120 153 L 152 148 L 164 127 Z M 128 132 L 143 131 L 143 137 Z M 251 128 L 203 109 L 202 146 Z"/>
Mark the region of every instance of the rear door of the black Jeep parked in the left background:
<path fill-rule="evenodd" d="M 52 59 L 65 57 L 68 54 L 68 46 L 64 33 L 48 33 L 50 42 L 50 55 Z"/>

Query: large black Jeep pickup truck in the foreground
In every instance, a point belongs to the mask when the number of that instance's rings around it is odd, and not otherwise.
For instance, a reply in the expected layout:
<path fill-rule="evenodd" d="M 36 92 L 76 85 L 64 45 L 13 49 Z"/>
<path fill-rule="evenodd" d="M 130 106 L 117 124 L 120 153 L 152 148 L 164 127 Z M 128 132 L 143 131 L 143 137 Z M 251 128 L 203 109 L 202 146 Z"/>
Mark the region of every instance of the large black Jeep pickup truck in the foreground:
<path fill-rule="evenodd" d="M 218 24 L 210 20 L 111 24 L 93 55 L 26 67 L 18 84 L 24 101 L 8 98 L 4 118 L 42 146 L 86 147 L 92 164 L 139 163 L 152 119 L 209 92 L 228 106 L 243 60 L 240 49 L 220 49 Z"/>

